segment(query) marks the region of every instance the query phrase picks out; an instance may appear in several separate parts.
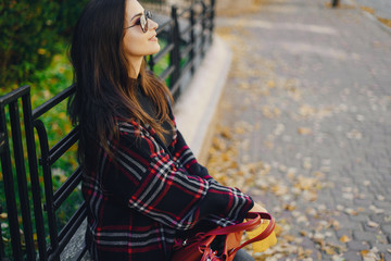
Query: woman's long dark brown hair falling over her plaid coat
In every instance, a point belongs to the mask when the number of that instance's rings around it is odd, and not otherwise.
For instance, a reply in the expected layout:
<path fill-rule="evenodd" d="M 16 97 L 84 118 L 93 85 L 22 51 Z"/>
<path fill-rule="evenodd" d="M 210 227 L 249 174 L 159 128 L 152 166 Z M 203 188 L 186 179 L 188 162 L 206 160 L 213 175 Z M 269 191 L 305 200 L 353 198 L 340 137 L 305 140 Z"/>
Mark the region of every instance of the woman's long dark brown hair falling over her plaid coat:
<path fill-rule="evenodd" d="M 74 125 L 79 125 L 78 160 L 84 167 L 97 166 L 101 146 L 114 157 L 109 141 L 118 138 L 118 119 L 149 124 L 164 140 L 162 127 L 169 121 L 167 87 L 151 72 L 140 70 L 141 86 L 156 108 L 157 119 L 144 112 L 137 100 L 137 80 L 128 77 L 130 64 L 123 48 L 126 0 L 91 0 L 75 27 L 71 62 L 76 92 L 68 101 Z"/>

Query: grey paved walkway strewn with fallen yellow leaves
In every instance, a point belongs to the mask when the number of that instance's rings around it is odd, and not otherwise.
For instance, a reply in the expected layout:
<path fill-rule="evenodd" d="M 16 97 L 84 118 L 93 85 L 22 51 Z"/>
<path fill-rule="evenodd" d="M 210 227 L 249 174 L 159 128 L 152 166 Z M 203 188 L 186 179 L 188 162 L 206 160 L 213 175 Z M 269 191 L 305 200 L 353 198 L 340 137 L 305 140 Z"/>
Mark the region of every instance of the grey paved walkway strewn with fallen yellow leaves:
<path fill-rule="evenodd" d="M 324 0 L 258 2 L 217 18 L 234 61 L 210 171 L 277 217 L 257 260 L 391 260 L 391 34 Z"/>

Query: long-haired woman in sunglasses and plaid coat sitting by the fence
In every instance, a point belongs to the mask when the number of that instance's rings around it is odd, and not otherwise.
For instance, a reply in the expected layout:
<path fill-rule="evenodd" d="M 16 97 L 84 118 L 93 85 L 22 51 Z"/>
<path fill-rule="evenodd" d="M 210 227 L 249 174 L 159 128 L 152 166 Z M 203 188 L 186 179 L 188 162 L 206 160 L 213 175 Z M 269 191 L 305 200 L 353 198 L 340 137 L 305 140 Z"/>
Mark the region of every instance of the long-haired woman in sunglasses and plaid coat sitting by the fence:
<path fill-rule="evenodd" d="M 80 129 L 93 260 L 169 260 L 175 238 L 264 211 L 214 181 L 187 147 L 167 87 L 144 70 L 144 55 L 160 50 L 156 28 L 137 0 L 91 0 L 75 28 L 68 111 Z"/>

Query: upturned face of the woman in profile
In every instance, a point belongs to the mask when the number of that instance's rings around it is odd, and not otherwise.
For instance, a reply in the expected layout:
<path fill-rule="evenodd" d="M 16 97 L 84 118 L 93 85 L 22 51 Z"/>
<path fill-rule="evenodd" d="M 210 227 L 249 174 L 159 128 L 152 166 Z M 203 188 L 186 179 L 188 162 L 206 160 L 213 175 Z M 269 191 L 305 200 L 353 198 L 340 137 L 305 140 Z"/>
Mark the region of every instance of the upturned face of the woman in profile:
<path fill-rule="evenodd" d="M 130 63 L 140 58 L 159 52 L 160 45 L 156 36 L 157 24 L 148 18 L 148 29 L 142 32 L 140 18 L 144 9 L 137 0 L 126 0 L 125 3 L 125 36 L 123 39 L 125 55 Z M 128 28 L 131 26 L 130 28 Z"/>

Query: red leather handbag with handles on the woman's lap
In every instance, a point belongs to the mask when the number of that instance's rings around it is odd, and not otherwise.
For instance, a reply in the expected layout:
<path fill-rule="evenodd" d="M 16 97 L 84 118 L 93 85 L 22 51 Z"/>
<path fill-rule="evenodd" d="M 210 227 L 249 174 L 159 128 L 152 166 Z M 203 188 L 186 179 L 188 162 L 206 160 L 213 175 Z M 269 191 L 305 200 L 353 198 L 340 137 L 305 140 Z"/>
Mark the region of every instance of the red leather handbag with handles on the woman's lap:
<path fill-rule="evenodd" d="M 172 261 L 232 261 L 237 251 L 244 246 L 260 241 L 268 237 L 274 231 L 276 223 L 269 213 L 250 212 L 243 222 L 237 225 L 217 227 L 210 232 L 198 233 L 194 237 L 186 240 L 177 240 L 174 245 Z M 269 220 L 267 227 L 256 237 L 240 244 L 243 231 L 256 228 L 262 220 Z M 218 235 L 226 235 L 223 253 L 211 248 L 212 241 Z"/>

